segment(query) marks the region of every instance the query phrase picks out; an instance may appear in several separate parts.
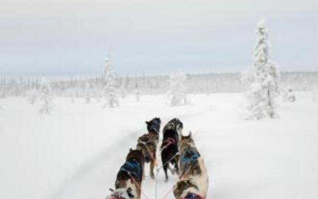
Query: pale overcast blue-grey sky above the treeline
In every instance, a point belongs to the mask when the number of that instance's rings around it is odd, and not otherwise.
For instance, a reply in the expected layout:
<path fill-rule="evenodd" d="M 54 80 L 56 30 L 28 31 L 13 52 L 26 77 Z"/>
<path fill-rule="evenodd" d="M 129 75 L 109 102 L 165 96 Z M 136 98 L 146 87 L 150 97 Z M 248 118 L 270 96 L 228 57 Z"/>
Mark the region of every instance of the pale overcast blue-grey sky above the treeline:
<path fill-rule="evenodd" d="M 317 0 L 0 0 L 0 74 L 238 72 L 264 17 L 281 71 L 318 71 Z"/>

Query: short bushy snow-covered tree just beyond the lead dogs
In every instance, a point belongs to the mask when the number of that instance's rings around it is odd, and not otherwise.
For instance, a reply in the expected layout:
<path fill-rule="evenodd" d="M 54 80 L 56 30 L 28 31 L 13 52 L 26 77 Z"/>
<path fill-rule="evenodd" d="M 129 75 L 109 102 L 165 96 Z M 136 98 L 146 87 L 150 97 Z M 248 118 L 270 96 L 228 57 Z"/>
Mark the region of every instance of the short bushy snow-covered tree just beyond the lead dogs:
<path fill-rule="evenodd" d="M 168 103 L 172 106 L 184 105 L 187 103 L 186 100 L 186 87 L 185 87 L 186 76 L 181 72 L 177 71 L 170 75 L 169 78 L 169 91 L 168 91 Z"/>

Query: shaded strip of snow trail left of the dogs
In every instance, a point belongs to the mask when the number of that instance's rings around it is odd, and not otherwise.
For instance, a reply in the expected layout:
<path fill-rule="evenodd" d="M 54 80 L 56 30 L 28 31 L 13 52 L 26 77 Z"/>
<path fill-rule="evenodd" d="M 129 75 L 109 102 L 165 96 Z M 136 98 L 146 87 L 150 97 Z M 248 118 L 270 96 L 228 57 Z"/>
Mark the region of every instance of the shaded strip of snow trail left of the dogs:
<path fill-rule="evenodd" d="M 91 193 L 93 198 L 103 198 L 105 192 L 105 182 L 109 183 L 109 176 L 106 172 L 111 171 L 118 166 L 117 163 L 120 159 L 117 156 L 123 155 L 121 153 L 114 153 L 118 146 L 133 146 L 130 143 L 140 131 L 135 131 L 121 141 L 113 143 L 111 146 L 106 147 L 101 153 L 95 156 L 92 160 L 88 161 L 85 165 L 81 166 L 69 180 L 64 182 L 57 191 L 55 191 L 49 198 L 50 199 L 70 199 L 70 198 L 85 198 L 83 191 Z M 120 150 L 124 153 L 124 150 Z M 128 151 L 128 149 L 127 149 Z M 122 156 L 124 157 L 124 156 Z M 104 178 L 103 178 L 104 177 Z M 99 182 L 99 183 L 98 183 Z M 99 186 L 98 186 L 99 185 Z M 110 184 L 109 188 L 113 185 Z M 85 196 L 85 197 L 83 197 Z"/>

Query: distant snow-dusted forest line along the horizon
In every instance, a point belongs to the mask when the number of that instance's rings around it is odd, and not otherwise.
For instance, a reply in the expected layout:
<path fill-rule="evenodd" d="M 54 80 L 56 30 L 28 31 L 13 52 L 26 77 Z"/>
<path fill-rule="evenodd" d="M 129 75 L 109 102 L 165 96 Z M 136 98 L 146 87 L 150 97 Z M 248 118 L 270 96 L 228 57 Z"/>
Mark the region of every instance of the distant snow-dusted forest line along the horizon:
<path fill-rule="evenodd" d="M 242 92 L 239 73 L 211 73 L 211 74 L 187 74 L 185 85 L 188 94 L 210 93 L 237 93 Z M 25 96 L 30 90 L 40 88 L 40 78 L 0 77 L 0 97 Z M 141 76 L 116 76 L 117 92 L 120 96 L 135 94 L 136 90 L 141 95 L 166 94 L 169 89 L 168 75 L 141 75 Z M 60 97 L 84 97 L 87 90 L 92 95 L 101 95 L 103 77 L 76 78 L 51 81 L 51 88 L 55 96 Z M 311 91 L 318 88 L 318 72 L 281 72 L 280 83 L 285 88 L 294 91 Z"/>

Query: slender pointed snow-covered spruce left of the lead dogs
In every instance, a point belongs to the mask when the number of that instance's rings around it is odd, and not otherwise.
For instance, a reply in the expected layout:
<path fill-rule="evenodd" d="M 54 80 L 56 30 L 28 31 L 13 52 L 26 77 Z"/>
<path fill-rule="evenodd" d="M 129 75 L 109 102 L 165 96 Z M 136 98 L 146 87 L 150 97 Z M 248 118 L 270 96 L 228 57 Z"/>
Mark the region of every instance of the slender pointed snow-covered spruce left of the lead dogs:
<path fill-rule="evenodd" d="M 112 67 L 112 63 L 110 59 L 110 53 L 107 54 L 103 79 L 104 79 L 103 94 L 105 97 L 104 107 L 119 106 L 119 101 L 118 101 L 117 92 L 115 88 L 115 85 L 116 85 L 115 74 L 114 74 L 114 69 Z"/>

